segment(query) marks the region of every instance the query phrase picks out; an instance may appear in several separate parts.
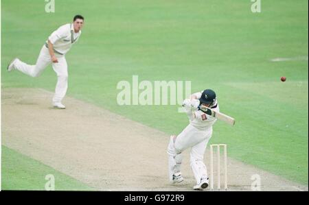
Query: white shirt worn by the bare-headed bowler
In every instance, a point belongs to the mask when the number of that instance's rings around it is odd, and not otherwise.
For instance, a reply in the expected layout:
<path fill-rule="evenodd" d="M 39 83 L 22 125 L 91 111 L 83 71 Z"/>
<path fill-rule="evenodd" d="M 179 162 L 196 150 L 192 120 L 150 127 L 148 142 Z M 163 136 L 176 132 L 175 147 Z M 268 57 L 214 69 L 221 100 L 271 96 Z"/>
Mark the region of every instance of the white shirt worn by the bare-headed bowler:
<path fill-rule="evenodd" d="M 74 32 L 73 23 L 67 23 L 56 29 L 56 31 L 48 37 L 48 40 L 52 43 L 57 53 L 65 55 L 65 53 L 71 49 L 71 46 L 78 41 L 81 33 L 82 31 L 78 33 Z M 46 42 L 47 45 L 48 40 Z"/>

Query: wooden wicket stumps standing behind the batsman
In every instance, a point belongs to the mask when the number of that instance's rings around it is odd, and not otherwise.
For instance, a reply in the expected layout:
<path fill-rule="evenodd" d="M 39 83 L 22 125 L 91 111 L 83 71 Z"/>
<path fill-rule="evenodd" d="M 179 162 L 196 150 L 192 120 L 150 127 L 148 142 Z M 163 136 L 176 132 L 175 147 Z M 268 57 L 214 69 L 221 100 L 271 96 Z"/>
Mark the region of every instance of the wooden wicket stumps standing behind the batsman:
<path fill-rule="evenodd" d="M 214 144 L 210 145 L 210 190 L 214 191 L 214 147 L 217 147 L 217 173 L 218 173 L 218 191 L 221 189 L 220 181 L 220 147 L 224 149 L 224 180 L 225 191 L 227 191 L 227 145 L 226 144 Z"/>

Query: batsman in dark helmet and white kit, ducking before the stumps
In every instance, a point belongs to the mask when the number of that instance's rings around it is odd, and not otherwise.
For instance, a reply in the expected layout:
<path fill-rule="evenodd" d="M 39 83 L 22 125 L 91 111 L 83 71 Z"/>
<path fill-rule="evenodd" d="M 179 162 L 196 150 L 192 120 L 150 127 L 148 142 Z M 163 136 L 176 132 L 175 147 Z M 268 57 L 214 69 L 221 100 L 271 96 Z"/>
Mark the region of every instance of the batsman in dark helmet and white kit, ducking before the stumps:
<path fill-rule="evenodd" d="M 219 112 L 216 93 L 210 89 L 194 93 L 190 99 L 183 101 L 183 107 L 189 117 L 189 125 L 178 135 L 171 136 L 168 145 L 168 170 L 172 184 L 183 182 L 181 176 L 181 152 L 192 147 L 190 166 L 196 179 L 194 190 L 204 190 L 209 184 L 207 168 L 203 162 L 207 143 L 211 138 L 214 117 L 200 109 L 200 105 L 207 106 Z"/>

